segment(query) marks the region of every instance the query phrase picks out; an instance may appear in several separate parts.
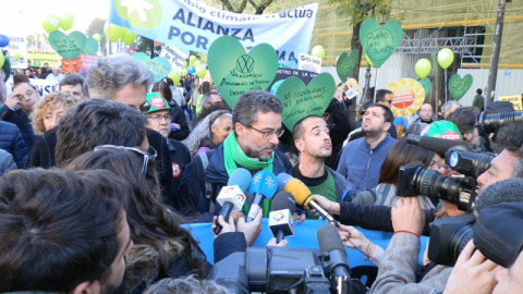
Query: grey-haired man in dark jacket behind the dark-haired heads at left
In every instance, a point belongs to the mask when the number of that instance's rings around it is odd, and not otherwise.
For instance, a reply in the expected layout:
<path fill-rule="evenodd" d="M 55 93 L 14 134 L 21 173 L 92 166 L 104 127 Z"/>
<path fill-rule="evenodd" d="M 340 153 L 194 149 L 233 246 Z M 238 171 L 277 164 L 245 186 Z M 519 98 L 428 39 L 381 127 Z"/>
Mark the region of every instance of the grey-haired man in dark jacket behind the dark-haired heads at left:
<path fill-rule="evenodd" d="M 139 110 L 145 103 L 147 89 L 151 86 L 153 81 L 153 73 L 145 64 L 130 56 L 119 54 L 98 60 L 87 71 L 85 83 L 88 86 L 90 97 L 130 106 L 137 110 L 136 114 L 143 118 Z M 56 166 L 54 149 L 57 147 L 57 132 L 59 128 L 52 128 L 38 137 L 35 142 L 35 148 L 29 151 L 26 166 L 40 168 Z M 133 131 L 130 130 L 129 132 Z M 158 152 L 155 162 L 160 175 L 160 183 L 165 188 L 163 193 L 165 195 L 170 195 L 174 192 L 169 191 L 172 170 L 167 140 L 158 132 L 148 128 L 146 132 L 148 144 Z M 100 134 L 93 133 L 87 136 L 96 137 L 100 136 Z M 109 142 L 101 144 L 122 145 Z M 126 146 L 136 147 L 137 145 Z"/>

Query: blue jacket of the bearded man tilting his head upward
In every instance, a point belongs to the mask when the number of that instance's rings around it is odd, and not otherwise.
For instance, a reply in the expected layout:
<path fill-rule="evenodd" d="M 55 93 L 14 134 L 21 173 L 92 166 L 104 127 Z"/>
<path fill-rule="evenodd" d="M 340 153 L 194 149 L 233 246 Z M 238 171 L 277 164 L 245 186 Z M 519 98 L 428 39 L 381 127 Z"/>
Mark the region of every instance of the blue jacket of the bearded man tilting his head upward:
<path fill-rule="evenodd" d="M 343 147 L 337 172 L 345 176 L 356 194 L 377 186 L 379 170 L 394 143 L 396 139 L 390 135 L 387 135 L 374 149 L 370 149 L 365 137 L 349 142 Z"/>

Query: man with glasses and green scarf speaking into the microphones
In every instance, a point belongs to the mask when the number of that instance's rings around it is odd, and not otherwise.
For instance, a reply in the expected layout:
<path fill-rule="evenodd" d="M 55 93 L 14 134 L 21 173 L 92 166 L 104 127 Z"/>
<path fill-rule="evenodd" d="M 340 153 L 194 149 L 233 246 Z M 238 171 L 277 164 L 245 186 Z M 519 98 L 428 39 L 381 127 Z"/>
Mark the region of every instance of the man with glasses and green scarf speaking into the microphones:
<path fill-rule="evenodd" d="M 276 150 L 283 133 L 282 108 L 278 98 L 267 91 L 252 90 L 240 97 L 232 110 L 234 131 L 216 149 L 196 156 L 187 166 L 177 197 L 179 212 L 197 212 L 203 215 L 198 221 L 210 222 L 221 209 L 216 197 L 238 168 L 247 169 L 253 175 L 260 170 L 276 175 L 291 172 L 289 159 Z M 243 212 L 247 210 L 245 204 Z M 264 201 L 263 210 L 267 217 L 269 200 Z"/>

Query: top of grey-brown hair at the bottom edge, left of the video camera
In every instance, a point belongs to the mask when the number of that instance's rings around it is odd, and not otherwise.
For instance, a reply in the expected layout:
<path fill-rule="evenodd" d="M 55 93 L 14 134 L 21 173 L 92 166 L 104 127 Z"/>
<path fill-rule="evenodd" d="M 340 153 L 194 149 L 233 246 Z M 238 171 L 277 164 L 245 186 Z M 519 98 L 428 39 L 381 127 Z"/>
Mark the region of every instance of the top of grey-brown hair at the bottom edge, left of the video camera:
<path fill-rule="evenodd" d="M 212 280 L 197 280 L 193 275 L 163 279 L 145 290 L 144 294 L 229 294 L 229 290 Z"/>

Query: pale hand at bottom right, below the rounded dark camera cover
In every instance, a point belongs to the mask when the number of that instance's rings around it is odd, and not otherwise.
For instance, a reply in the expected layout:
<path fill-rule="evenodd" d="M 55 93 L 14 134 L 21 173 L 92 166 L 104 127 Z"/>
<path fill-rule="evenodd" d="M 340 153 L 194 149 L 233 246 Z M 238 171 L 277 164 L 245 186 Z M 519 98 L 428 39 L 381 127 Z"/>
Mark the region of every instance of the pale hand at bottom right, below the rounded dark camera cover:
<path fill-rule="evenodd" d="M 500 270 L 501 266 L 486 259 L 479 250 L 474 252 L 475 248 L 472 240 L 463 248 L 450 273 L 443 294 L 492 293 L 497 284 L 496 271 Z"/>

